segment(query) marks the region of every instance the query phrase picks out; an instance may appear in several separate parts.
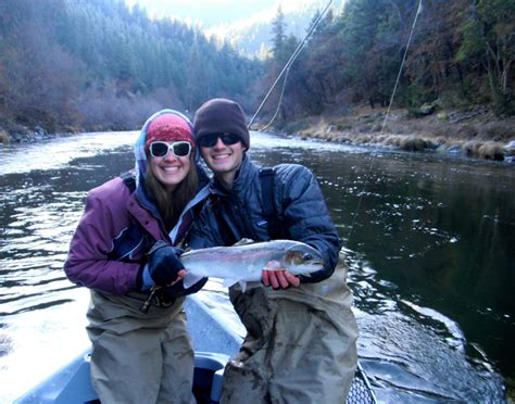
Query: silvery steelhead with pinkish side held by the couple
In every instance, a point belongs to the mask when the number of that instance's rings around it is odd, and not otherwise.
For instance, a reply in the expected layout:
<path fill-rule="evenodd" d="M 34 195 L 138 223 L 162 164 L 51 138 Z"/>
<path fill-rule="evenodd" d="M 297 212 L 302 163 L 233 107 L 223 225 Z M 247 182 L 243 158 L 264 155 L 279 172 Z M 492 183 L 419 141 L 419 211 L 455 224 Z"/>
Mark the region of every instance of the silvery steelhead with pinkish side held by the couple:
<path fill-rule="evenodd" d="M 205 277 L 224 279 L 224 286 L 239 282 L 244 291 L 247 282 L 260 281 L 262 270 L 287 269 L 294 275 L 309 276 L 321 270 L 324 261 L 311 245 L 293 240 L 238 243 L 192 250 L 180 256 L 188 275 L 184 286 L 191 287 Z"/>

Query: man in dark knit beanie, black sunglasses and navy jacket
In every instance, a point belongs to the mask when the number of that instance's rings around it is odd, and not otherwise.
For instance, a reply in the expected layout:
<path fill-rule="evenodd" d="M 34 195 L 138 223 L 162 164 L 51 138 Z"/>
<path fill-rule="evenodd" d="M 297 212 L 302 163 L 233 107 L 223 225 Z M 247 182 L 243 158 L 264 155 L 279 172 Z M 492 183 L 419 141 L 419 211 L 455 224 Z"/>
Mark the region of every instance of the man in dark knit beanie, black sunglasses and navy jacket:
<path fill-rule="evenodd" d="M 193 126 L 214 177 L 189 245 L 286 238 L 314 247 L 325 260 L 324 269 L 311 277 L 264 270 L 262 282 L 244 292 L 229 289 L 247 337 L 225 369 L 222 401 L 343 403 L 357 362 L 357 326 L 339 237 L 315 177 L 301 165 L 275 166 L 276 217 L 266 220 L 260 168 L 246 153 L 250 137 L 241 108 L 210 100 L 197 111 Z"/>

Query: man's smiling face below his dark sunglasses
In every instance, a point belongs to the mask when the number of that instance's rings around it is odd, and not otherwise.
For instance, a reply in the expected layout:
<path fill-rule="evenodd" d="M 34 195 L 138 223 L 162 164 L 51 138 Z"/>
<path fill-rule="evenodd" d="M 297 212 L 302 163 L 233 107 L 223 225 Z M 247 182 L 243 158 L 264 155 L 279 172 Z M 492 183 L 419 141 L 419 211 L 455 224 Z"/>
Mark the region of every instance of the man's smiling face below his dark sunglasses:
<path fill-rule="evenodd" d="M 218 138 L 215 146 L 211 148 L 201 147 L 200 153 L 214 175 L 226 188 L 230 189 L 236 172 L 243 161 L 243 146 L 241 141 L 227 146 Z"/>

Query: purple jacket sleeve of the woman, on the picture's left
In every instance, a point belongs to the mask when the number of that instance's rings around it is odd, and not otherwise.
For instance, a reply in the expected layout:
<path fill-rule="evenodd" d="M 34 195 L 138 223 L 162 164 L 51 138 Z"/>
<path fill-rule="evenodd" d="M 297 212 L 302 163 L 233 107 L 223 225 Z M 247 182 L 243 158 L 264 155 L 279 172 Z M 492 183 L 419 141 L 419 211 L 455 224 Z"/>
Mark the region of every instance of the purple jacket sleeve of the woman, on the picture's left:
<path fill-rule="evenodd" d="M 117 192 L 128 194 L 125 189 L 117 189 Z M 70 244 L 64 272 L 72 282 L 79 286 L 125 294 L 136 290 L 140 264 L 108 258 L 113 249 L 113 239 L 128 226 L 125 206 L 111 202 L 120 201 L 120 194 L 111 197 L 98 188 L 88 193 L 85 212 Z"/>

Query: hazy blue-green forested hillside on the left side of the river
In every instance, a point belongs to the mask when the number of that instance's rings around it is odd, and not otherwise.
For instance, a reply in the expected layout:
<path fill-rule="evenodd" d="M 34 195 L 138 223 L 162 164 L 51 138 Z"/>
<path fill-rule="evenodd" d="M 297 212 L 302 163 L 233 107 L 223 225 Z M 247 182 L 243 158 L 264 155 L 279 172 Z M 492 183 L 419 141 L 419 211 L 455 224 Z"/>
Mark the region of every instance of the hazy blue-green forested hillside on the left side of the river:
<path fill-rule="evenodd" d="M 210 97 L 253 103 L 260 62 L 122 0 L 0 1 L 0 123 L 47 130 L 138 127 Z"/>

